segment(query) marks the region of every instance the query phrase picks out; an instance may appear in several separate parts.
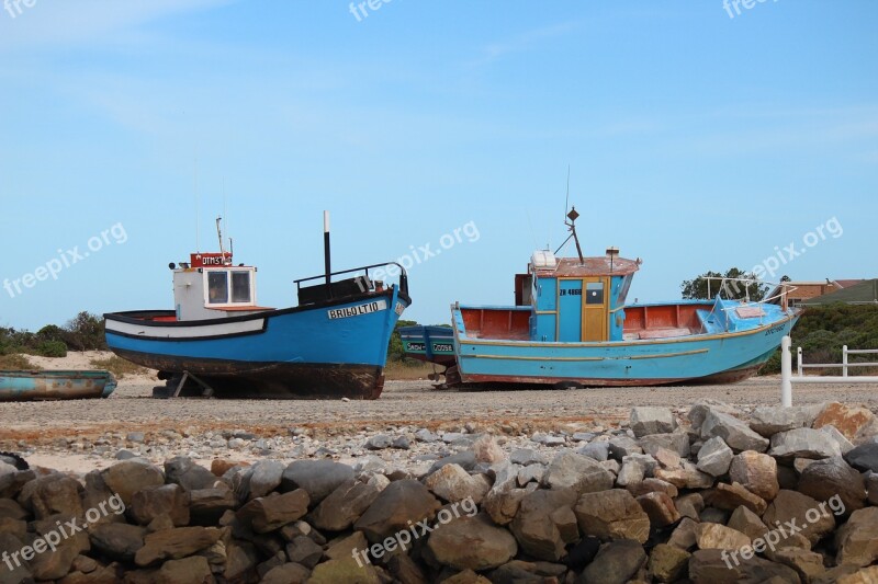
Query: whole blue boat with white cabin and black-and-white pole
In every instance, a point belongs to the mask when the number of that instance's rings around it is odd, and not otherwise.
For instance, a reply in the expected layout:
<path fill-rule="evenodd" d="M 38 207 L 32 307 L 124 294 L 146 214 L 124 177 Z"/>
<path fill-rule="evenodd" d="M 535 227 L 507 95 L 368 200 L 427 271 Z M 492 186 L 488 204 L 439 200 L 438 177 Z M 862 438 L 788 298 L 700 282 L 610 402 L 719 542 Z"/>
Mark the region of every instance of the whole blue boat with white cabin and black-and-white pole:
<path fill-rule="evenodd" d="M 218 220 L 217 220 L 218 229 Z M 194 253 L 173 273 L 173 310 L 113 312 L 106 344 L 119 356 L 158 369 L 156 397 L 376 399 L 384 386 L 391 333 L 410 305 L 396 263 L 295 280 L 297 306 L 256 299 L 256 267 L 234 265 L 232 251 Z M 396 285 L 371 276 L 381 268 Z"/>

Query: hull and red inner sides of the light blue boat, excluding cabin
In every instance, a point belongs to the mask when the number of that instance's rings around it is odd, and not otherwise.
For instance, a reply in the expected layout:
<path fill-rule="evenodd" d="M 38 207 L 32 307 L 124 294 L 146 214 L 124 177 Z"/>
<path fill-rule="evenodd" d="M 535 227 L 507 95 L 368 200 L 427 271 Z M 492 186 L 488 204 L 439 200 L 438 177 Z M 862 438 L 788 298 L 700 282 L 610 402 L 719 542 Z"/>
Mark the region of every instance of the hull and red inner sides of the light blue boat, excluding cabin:
<path fill-rule="evenodd" d="M 569 288 L 577 289 L 577 288 Z M 450 385 L 516 382 L 556 386 L 655 386 L 725 383 L 746 379 L 768 360 L 798 316 L 763 305 L 758 316 L 739 301 L 632 305 L 617 311 L 631 325 L 606 341 L 516 339 L 521 329 L 498 331 L 530 309 L 455 306 L 457 364 Z M 564 317 L 564 308 L 559 311 Z M 638 320 L 638 318 L 645 320 Z M 551 327 L 551 324 L 549 324 Z M 566 332 L 570 332 L 567 328 Z"/>

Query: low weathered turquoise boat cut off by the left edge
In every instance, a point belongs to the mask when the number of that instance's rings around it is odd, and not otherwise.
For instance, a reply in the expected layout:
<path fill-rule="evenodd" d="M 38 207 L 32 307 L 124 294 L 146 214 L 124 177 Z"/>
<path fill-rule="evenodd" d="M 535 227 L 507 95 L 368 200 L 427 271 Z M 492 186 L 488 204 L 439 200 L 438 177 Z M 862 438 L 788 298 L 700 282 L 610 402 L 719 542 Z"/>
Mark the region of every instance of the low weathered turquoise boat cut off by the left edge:
<path fill-rule="evenodd" d="M 116 388 L 104 370 L 0 371 L 0 401 L 54 401 L 109 398 Z"/>

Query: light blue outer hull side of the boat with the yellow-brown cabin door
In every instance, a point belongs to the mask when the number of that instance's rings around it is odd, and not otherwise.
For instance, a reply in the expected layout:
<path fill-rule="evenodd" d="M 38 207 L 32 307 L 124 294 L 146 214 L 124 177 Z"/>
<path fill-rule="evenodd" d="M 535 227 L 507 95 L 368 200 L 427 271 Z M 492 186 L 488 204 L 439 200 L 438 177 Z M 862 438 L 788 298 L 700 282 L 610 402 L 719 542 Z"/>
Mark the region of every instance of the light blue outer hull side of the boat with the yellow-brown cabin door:
<path fill-rule="evenodd" d="M 592 343 L 472 337 L 461 307 L 452 310 L 452 318 L 457 365 L 449 371 L 450 385 L 601 387 L 732 382 L 747 378 L 777 350 L 798 314 L 778 309 L 762 322 L 732 323 L 736 324 L 732 329 L 738 330 L 729 332 Z"/>

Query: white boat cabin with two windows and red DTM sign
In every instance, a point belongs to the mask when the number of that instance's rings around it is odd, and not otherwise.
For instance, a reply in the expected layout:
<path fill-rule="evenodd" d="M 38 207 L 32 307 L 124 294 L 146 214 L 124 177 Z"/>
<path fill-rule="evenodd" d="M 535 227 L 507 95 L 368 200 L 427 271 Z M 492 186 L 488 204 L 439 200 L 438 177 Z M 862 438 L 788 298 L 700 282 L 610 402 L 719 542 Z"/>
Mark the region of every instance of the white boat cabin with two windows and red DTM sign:
<path fill-rule="evenodd" d="M 232 253 L 192 253 L 173 267 L 178 321 L 240 317 L 271 310 L 256 301 L 256 267 L 233 265 Z"/>

